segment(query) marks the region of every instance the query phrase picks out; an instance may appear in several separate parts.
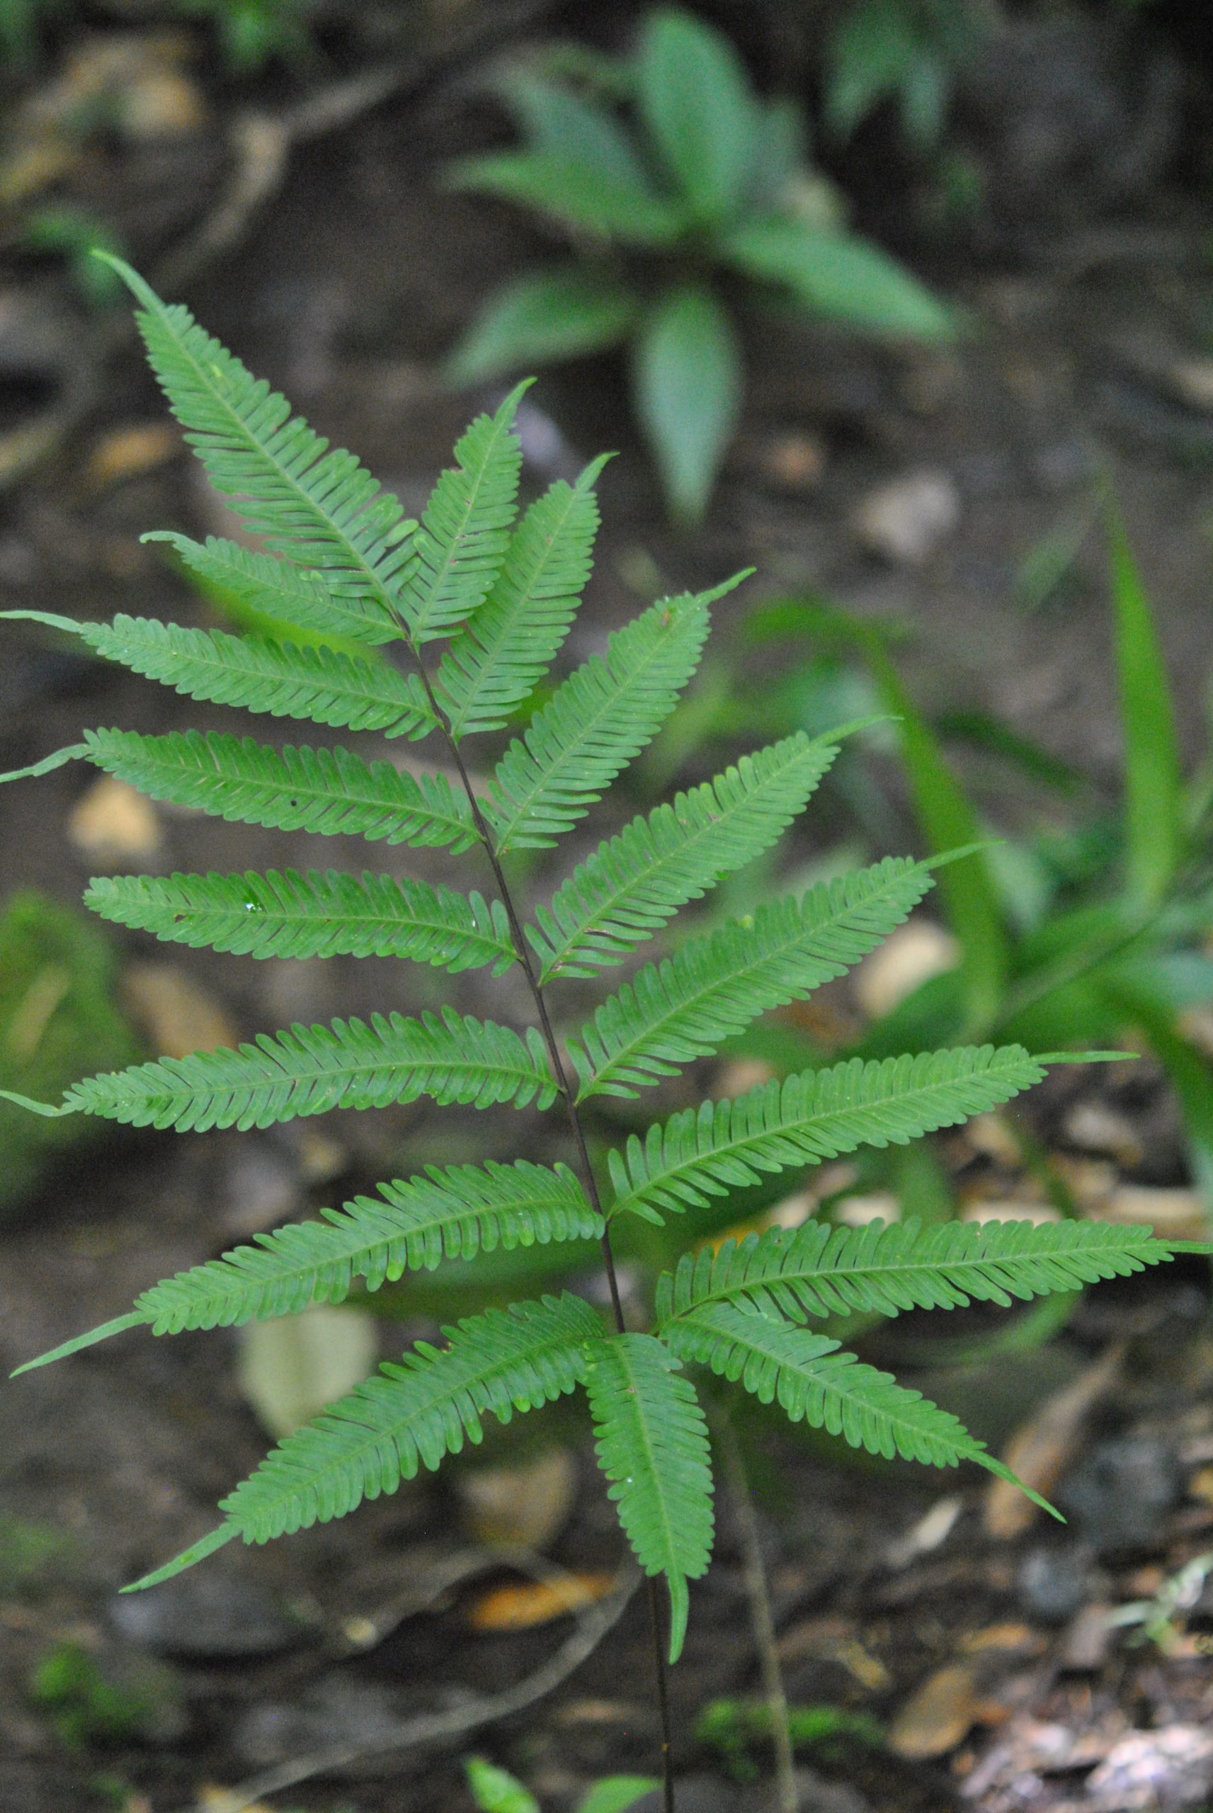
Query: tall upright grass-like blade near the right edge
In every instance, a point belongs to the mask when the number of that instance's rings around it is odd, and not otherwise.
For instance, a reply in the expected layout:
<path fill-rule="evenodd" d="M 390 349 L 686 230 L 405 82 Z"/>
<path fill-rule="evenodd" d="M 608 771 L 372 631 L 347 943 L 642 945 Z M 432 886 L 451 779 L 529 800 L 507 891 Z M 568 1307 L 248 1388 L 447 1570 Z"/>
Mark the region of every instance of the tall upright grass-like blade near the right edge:
<path fill-rule="evenodd" d="M 1106 504 L 1106 535 L 1124 734 L 1128 885 L 1140 906 L 1157 906 L 1184 847 L 1175 707 L 1150 600 L 1111 500 Z"/>

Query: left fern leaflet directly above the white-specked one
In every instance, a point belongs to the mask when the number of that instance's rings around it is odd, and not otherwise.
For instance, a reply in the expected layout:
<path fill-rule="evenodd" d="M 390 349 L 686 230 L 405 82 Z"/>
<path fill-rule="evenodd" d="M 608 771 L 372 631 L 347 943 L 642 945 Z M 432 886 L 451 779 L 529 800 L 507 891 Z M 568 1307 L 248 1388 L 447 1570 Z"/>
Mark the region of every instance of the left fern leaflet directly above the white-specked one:
<path fill-rule="evenodd" d="M 444 774 L 413 780 L 390 761 L 348 749 L 267 749 L 252 736 L 209 731 L 85 731 L 89 761 L 152 800 L 279 830 L 346 832 L 372 843 L 450 845 L 479 839 L 471 807 Z"/>

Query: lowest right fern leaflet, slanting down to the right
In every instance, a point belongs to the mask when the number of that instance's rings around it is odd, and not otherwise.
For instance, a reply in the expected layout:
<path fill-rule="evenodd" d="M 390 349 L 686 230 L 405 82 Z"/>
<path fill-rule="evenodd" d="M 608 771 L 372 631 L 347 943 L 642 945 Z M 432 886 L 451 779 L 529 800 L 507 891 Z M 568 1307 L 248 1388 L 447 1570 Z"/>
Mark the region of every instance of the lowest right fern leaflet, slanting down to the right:
<path fill-rule="evenodd" d="M 680 1358 L 740 1380 L 762 1403 L 778 1401 L 792 1423 L 807 1421 L 885 1459 L 899 1454 L 927 1467 L 975 1461 L 1057 1517 L 1048 1499 L 1023 1485 L 950 1411 L 899 1385 L 892 1372 L 839 1352 L 823 1334 L 734 1304 L 709 1304 L 671 1322 L 665 1338 Z"/>

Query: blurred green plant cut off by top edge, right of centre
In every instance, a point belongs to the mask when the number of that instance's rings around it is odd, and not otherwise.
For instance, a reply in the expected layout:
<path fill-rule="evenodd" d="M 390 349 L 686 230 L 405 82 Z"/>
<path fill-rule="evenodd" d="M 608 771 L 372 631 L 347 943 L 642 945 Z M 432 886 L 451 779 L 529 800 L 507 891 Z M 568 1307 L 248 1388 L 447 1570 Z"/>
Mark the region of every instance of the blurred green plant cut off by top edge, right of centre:
<path fill-rule="evenodd" d="M 970 0 L 858 0 L 825 44 L 823 114 L 849 140 L 881 105 L 898 109 L 917 152 L 937 149 L 956 80 L 981 49 L 988 15 Z"/>

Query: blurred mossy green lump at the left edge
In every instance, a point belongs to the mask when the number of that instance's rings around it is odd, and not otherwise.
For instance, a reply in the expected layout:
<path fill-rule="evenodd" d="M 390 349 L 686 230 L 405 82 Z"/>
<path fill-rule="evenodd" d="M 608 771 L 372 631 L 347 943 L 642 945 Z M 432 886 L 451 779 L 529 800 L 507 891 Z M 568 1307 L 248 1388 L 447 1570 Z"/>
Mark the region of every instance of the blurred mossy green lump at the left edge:
<path fill-rule="evenodd" d="M 114 970 L 109 939 L 82 912 L 33 888 L 13 896 L 0 914 L 0 1088 L 58 1093 L 92 1064 L 138 1055 L 114 1006 Z M 36 1120 L 0 1102 L 0 1215 L 87 1137 L 85 1122 Z"/>

